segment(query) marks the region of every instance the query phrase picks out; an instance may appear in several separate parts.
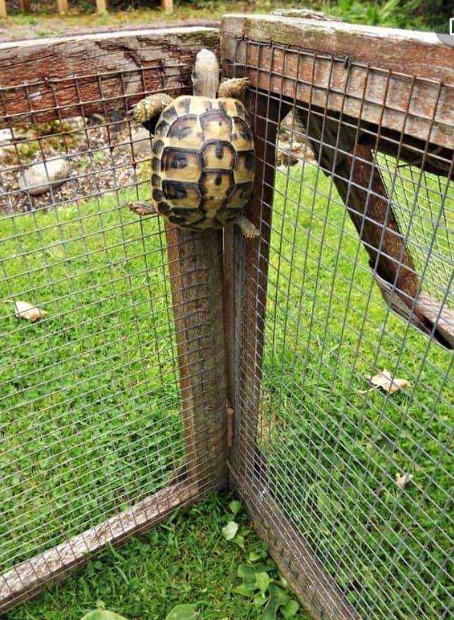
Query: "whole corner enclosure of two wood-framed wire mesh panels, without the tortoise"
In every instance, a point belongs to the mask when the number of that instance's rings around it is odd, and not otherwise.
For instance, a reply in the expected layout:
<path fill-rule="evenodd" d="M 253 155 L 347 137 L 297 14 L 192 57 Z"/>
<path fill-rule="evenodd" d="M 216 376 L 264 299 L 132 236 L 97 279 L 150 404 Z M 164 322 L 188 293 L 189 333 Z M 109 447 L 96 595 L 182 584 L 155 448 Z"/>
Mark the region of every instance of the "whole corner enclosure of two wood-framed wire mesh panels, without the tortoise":
<path fill-rule="evenodd" d="M 314 618 L 447 618 L 453 48 L 221 35 L 0 44 L 0 612 L 228 483 Z M 251 80 L 254 242 L 127 209 L 127 111 L 203 47 Z"/>

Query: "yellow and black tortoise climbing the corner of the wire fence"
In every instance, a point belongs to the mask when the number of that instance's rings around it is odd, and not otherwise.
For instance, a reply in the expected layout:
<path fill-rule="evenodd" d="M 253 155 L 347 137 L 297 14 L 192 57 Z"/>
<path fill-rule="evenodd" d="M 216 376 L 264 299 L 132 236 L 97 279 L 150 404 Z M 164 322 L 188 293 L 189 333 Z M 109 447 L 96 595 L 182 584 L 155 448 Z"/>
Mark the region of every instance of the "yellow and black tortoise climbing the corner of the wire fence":
<path fill-rule="evenodd" d="M 241 101 L 248 79 L 220 85 L 217 58 L 202 49 L 192 83 L 192 96 L 153 94 L 132 111 L 153 135 L 152 204 L 136 202 L 130 209 L 139 215 L 159 213 L 194 231 L 236 222 L 245 237 L 257 237 L 258 230 L 243 215 L 255 168 L 251 125 Z"/>

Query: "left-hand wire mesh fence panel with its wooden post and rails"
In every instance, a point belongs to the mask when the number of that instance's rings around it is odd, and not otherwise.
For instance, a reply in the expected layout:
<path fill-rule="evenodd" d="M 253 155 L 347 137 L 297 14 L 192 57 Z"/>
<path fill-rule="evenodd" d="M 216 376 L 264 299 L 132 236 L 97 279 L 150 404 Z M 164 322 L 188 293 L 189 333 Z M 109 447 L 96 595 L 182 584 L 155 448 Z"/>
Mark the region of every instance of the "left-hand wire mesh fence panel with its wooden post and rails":
<path fill-rule="evenodd" d="M 200 48 L 162 39 L 146 67 L 0 89 L 0 609 L 219 482 L 209 274 L 127 209 L 151 176 L 127 112 L 190 92 Z"/>

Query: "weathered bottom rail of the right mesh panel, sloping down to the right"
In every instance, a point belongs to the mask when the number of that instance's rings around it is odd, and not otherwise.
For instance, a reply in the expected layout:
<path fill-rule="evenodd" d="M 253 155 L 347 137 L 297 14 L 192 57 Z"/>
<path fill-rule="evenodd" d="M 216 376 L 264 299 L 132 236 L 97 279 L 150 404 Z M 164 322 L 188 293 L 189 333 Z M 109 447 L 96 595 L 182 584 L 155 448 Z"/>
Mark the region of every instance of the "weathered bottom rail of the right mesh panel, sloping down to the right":
<path fill-rule="evenodd" d="M 360 620 L 358 612 L 280 509 L 266 476 L 251 478 L 237 469 L 232 469 L 230 476 L 253 527 L 270 545 L 272 558 L 310 616 L 315 620 Z"/>

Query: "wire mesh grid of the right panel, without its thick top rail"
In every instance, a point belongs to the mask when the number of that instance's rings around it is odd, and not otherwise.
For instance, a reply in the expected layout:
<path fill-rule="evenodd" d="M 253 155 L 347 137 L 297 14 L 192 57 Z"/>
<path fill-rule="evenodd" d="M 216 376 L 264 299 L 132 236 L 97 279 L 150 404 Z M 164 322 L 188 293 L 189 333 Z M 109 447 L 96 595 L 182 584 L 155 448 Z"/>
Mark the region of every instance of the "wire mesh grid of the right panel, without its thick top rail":
<path fill-rule="evenodd" d="M 233 63 L 232 72 L 270 75 L 269 65 L 260 63 L 260 49 L 273 44 L 246 39 L 246 46 L 258 46 L 257 63 Z M 277 105 L 279 111 L 289 101 L 258 89 L 249 99 L 253 123 L 265 126 L 257 140 L 273 150 L 270 136 L 277 127 L 258 114 L 260 97 L 267 97 L 267 109 Z M 327 109 L 320 113 L 294 101 L 294 112 L 298 108 L 323 123 L 330 116 Z M 291 140 L 301 142 L 308 126 L 294 126 Z M 341 114 L 339 135 L 343 126 L 352 120 Z M 358 121 L 356 126 L 359 132 Z M 379 144 L 382 128 L 367 132 Z M 322 134 L 320 146 L 323 140 Z M 315 150 L 316 142 L 311 137 Z M 403 142 L 402 132 L 397 154 Z M 452 299 L 452 184 L 421 171 L 429 140 L 413 148 L 420 168 L 377 149 L 374 167 L 384 176 L 422 290 L 441 302 L 441 312 Z M 449 178 L 452 160 L 441 156 L 440 162 Z M 257 320 L 242 325 L 239 460 L 232 468 L 239 492 L 270 540 L 294 540 L 297 531 L 301 538 L 291 544 L 297 549 L 305 541 L 320 559 L 351 602 L 346 617 L 448 617 L 452 356 L 434 342 L 433 330 L 422 335 L 384 303 L 334 186 L 335 166 L 324 175 L 321 163 L 320 157 L 311 163 L 303 156 L 294 168 L 277 168 L 271 187 L 274 163 L 258 161 L 274 200 L 270 204 L 261 194 L 260 246 L 245 271 Z M 346 180 L 351 186 L 351 178 Z M 367 200 L 372 196 L 368 187 Z M 264 280 L 266 311 L 260 302 Z M 393 380 L 405 378 L 410 385 L 393 394 L 374 388 L 370 378 L 385 368 Z M 320 592 L 316 571 L 311 573 L 303 557 L 286 561 L 313 600 L 318 589 L 315 607 L 326 609 L 332 590 Z"/>

